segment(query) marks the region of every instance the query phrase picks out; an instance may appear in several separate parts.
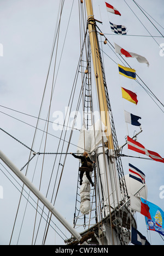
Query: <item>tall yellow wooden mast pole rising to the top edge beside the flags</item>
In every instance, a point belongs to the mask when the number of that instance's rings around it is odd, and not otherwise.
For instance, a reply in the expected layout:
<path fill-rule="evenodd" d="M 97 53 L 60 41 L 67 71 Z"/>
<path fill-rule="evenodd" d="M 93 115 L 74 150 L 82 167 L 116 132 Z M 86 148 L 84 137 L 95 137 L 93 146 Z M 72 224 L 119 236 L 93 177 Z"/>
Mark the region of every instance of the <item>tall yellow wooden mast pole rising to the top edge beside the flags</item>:
<path fill-rule="evenodd" d="M 108 103 L 106 97 L 106 91 L 103 82 L 103 72 L 101 66 L 101 56 L 99 54 L 99 43 L 97 40 L 96 22 L 93 16 L 93 8 L 91 0 L 85 0 L 86 10 L 88 16 L 88 30 L 90 36 L 90 44 L 92 51 L 93 67 L 95 71 L 99 111 L 101 113 L 101 121 L 106 126 L 106 137 L 108 139 L 108 148 L 114 149 L 112 130 L 110 125 Z"/>

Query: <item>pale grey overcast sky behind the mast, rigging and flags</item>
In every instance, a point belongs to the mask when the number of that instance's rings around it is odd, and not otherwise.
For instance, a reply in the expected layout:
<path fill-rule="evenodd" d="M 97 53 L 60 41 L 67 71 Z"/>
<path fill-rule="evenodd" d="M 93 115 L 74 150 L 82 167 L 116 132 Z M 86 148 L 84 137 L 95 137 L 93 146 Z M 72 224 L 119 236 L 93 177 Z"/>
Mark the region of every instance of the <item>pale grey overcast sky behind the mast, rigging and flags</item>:
<path fill-rule="evenodd" d="M 62 45 L 65 38 L 69 14 L 71 12 L 72 0 L 66 1 L 61 23 L 61 36 L 57 54 L 57 64 L 60 62 L 62 52 Z M 136 69 L 137 75 L 154 92 L 157 98 L 163 103 L 163 62 L 164 56 L 160 56 L 160 45 L 164 44 L 164 39 L 156 28 L 148 21 L 143 13 L 136 7 L 132 0 L 126 0 L 127 4 L 134 11 L 127 6 L 125 1 L 110 0 L 108 1 L 122 14 L 121 17 L 107 13 L 106 5 L 102 0 L 94 0 L 93 7 L 95 11 L 95 18 L 101 20 L 103 25 L 98 24 L 98 27 L 112 45 L 114 42 L 120 45 L 127 51 L 144 56 L 150 63 L 146 64 L 137 62 L 136 59 L 126 59 L 128 64 Z M 55 0 L 0 0 L 0 43 L 3 45 L 3 57 L 0 57 L 0 115 L 1 128 L 9 132 L 15 138 L 31 147 L 34 136 L 34 127 L 37 119 L 28 117 L 27 115 L 17 113 L 9 110 L 14 109 L 19 112 L 38 116 L 40 103 L 42 101 L 46 77 L 48 74 L 48 67 L 50 62 L 51 48 L 54 40 L 54 33 L 56 30 L 56 20 L 58 5 L 60 1 Z M 164 34 L 164 2 L 163 0 L 137 0 L 137 3 L 147 11 L 149 19 L 154 23 L 158 30 Z M 136 14 L 136 16 L 134 15 Z M 151 17 L 156 21 L 154 21 Z M 138 18 L 137 18 L 138 17 Z M 109 20 L 114 24 L 124 25 L 127 27 L 128 36 L 115 36 L 112 34 L 109 26 Z M 142 23 L 141 23 L 142 22 Z M 158 24 L 157 24 L 158 22 Z M 162 26 L 160 26 L 160 25 Z M 80 56 L 80 42 L 79 42 L 79 18 L 78 18 L 78 1 L 75 1 L 72 10 L 72 16 L 66 37 L 65 48 L 61 59 L 60 69 L 56 78 L 54 95 L 52 98 L 50 121 L 54 121 L 54 112 L 65 112 L 65 107 L 68 106 L 69 96 L 74 81 L 75 71 L 77 69 L 78 60 Z M 145 27 L 147 30 L 145 29 Z M 149 32 L 148 32 L 149 31 Z M 151 36 L 154 36 L 152 38 Z M 133 36 L 131 36 L 133 35 Z M 145 37 L 147 36 L 147 37 Z M 118 136 L 119 145 L 125 143 L 125 136 L 129 133 L 133 136 L 134 131 L 139 131 L 139 127 L 132 127 L 125 123 L 124 109 L 133 114 L 142 117 L 143 132 L 138 136 L 138 142 L 149 150 L 159 153 L 164 158 L 163 151 L 163 111 L 150 98 L 145 90 L 134 80 L 127 79 L 119 75 L 118 65 L 121 61 L 118 55 L 115 55 L 110 49 L 109 45 L 102 44 L 104 54 L 104 63 L 106 71 L 106 80 L 108 85 L 108 92 L 110 103 L 115 121 L 115 128 Z M 162 52 L 161 52 L 162 53 Z M 110 56 L 110 59 L 108 56 Z M 55 61 L 55 57 L 53 58 Z M 125 64 L 125 63 L 124 63 Z M 57 70 L 57 69 L 56 69 Z M 55 74 L 56 75 L 56 74 Z M 139 79 L 138 79 L 139 80 Z M 144 84 L 139 80 L 144 86 Z M 52 71 L 48 79 L 48 86 L 44 98 L 41 117 L 46 119 L 51 93 Z M 75 110 L 77 104 L 78 93 L 81 84 L 79 83 L 75 94 L 75 103 L 72 110 Z M 138 95 L 138 104 L 127 102 L 122 99 L 121 86 L 136 92 Z M 145 86 L 144 86 L 145 88 Z M 95 91 L 95 84 L 93 81 L 93 90 Z M 4 108 L 5 107 L 5 108 Z M 96 109 L 96 103 L 95 103 Z M 4 113 L 2 113 L 4 112 Z M 10 115 L 10 116 L 9 116 Z M 16 120 L 14 118 L 19 120 Z M 21 121 L 20 121 L 21 120 Z M 72 120 L 71 120 L 72 121 Z M 22 123 L 24 122 L 24 123 Z M 30 125 L 29 125 L 30 124 Z M 44 121 L 39 122 L 39 129 L 44 129 Z M 57 152 L 58 138 L 61 131 L 54 131 L 52 123 L 49 125 L 48 142 L 46 144 L 46 152 Z M 79 131 L 73 133 L 73 139 L 69 152 L 76 152 L 79 137 Z M 69 137 L 67 137 L 69 139 Z M 43 141 L 45 140 L 45 135 Z M 37 137 L 34 142 L 34 150 L 36 152 L 44 151 L 44 143 L 41 148 L 42 131 L 37 132 Z M 0 136 L 1 150 L 14 162 L 14 164 L 21 168 L 28 161 L 30 150 L 16 142 L 13 138 L 1 131 Z M 67 145 L 66 145 L 67 147 Z M 63 150 L 65 152 L 66 150 Z M 138 156 L 137 153 L 130 152 L 127 146 L 124 147 L 123 154 Z M 143 155 L 140 155 L 141 157 Z M 61 159 L 63 161 L 64 156 Z M 40 170 L 42 169 L 43 156 L 39 156 L 39 164 L 34 177 L 34 184 L 39 188 Z M 32 179 L 34 166 L 36 164 L 37 156 L 31 163 L 28 177 Z M 49 177 L 51 174 L 51 167 L 53 165 L 54 156 L 46 156 L 41 190 L 46 193 Z M 59 162 L 60 160 L 58 160 Z M 57 162 L 57 164 L 58 164 Z M 141 160 L 132 158 L 122 158 L 122 164 L 125 174 L 128 174 L 128 162 L 138 167 L 146 175 L 146 183 L 148 185 L 148 201 L 151 201 L 162 208 L 164 211 L 164 199 L 160 198 L 160 187 L 164 186 L 164 165 L 159 162 L 151 160 Z M 3 163 L 2 163 L 3 164 Z M 57 170 L 58 166 L 55 167 Z M 8 245 L 10 241 L 11 231 L 13 229 L 14 220 L 16 216 L 17 206 L 19 204 L 20 192 L 15 188 L 12 177 L 3 166 L 0 172 L 0 185 L 3 188 L 3 199 L 0 199 L 1 218 L 0 218 L 0 244 Z M 60 169 L 61 171 L 61 166 Z M 78 179 L 78 162 L 71 155 L 67 156 L 66 168 L 63 172 L 61 186 L 58 191 L 56 200 L 56 208 L 61 214 L 72 224 L 75 196 Z M 9 179 L 13 181 L 9 181 Z M 25 170 L 24 170 L 25 173 Z M 13 175 L 13 174 L 12 174 Z M 55 175 L 53 176 L 55 181 Z M 15 177 L 13 175 L 13 177 Z M 16 185 L 19 187 L 19 185 Z M 21 187 L 19 187 L 21 190 Z M 51 188 L 52 189 L 52 188 Z M 49 195 L 49 198 L 51 196 Z M 54 199 L 53 199 L 54 201 Z M 26 200 L 21 200 L 20 210 L 16 219 L 15 229 L 11 244 L 15 245 L 19 237 L 20 226 L 24 216 L 26 207 Z M 33 224 L 35 218 L 35 211 L 28 204 L 27 212 L 22 225 L 21 234 L 19 237 L 19 245 L 31 244 Z M 39 218 L 38 218 L 39 219 Z M 55 218 L 54 223 L 59 225 Z M 149 236 L 149 241 L 152 245 L 163 245 L 164 242 L 159 234 L 156 232 L 147 232 L 144 216 L 137 214 L 138 230 L 143 235 Z M 61 226 L 60 226 L 61 227 Z M 61 227 L 62 228 L 62 227 Z M 70 235 L 65 229 L 63 232 L 69 237 Z M 39 236 L 36 244 L 42 243 L 42 233 L 44 232 L 44 225 L 39 230 Z M 48 235 L 48 244 L 61 244 L 62 239 L 50 228 Z"/>

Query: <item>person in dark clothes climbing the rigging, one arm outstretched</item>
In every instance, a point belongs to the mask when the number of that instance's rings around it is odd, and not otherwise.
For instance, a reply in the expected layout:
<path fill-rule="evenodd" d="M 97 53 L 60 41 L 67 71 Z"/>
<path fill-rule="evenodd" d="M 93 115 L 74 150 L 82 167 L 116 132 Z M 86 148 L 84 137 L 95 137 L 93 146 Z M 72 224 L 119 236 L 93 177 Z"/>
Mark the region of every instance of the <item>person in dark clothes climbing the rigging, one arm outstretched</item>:
<path fill-rule="evenodd" d="M 70 153 L 70 154 L 72 154 L 74 156 L 74 158 L 78 158 L 78 159 L 81 160 L 81 167 L 79 168 L 79 170 L 80 170 L 80 175 L 79 175 L 79 177 L 80 177 L 80 185 L 82 185 L 83 174 L 85 172 L 87 179 L 89 179 L 89 181 L 90 181 L 90 183 L 91 183 L 91 185 L 93 187 L 94 184 L 93 184 L 92 179 L 90 177 L 90 172 L 92 172 L 93 169 L 92 169 L 92 166 L 89 167 L 89 163 L 94 164 L 95 162 L 92 162 L 92 160 L 89 158 L 87 152 L 84 152 L 83 156 L 81 156 L 81 155 L 78 156 L 78 155 L 75 155 L 73 153 Z"/>

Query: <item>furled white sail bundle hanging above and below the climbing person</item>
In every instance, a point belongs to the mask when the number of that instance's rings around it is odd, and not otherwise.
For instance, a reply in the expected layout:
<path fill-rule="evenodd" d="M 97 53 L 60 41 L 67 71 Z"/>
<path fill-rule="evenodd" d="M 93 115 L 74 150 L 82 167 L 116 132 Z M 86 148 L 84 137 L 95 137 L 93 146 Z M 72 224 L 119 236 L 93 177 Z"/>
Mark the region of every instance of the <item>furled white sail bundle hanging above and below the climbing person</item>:
<path fill-rule="evenodd" d="M 91 126 L 89 130 L 86 130 L 83 126 L 83 129 L 80 131 L 77 153 L 83 153 L 84 151 L 88 153 L 94 152 L 99 144 L 102 143 L 102 136 L 104 136 L 104 142 L 107 141 L 104 133 L 105 130 L 106 127 L 101 124 L 100 120 L 98 120 L 94 126 Z M 91 174 L 92 172 L 90 172 L 90 175 Z M 80 188 L 80 212 L 82 214 L 89 214 L 91 210 L 90 191 L 90 182 L 84 173 L 83 184 Z"/>

